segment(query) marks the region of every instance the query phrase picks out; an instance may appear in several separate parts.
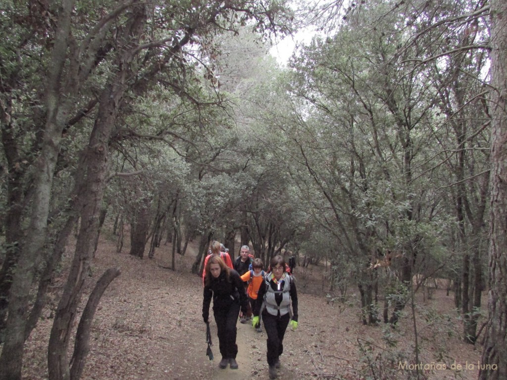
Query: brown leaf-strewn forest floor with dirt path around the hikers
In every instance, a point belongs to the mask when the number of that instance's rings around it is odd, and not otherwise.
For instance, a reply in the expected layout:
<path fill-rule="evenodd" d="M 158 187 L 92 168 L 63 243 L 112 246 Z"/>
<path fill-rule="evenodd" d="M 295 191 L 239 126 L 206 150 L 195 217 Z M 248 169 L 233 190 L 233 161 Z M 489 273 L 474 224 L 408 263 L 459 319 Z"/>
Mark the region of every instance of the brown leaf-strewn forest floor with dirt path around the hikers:
<path fill-rule="evenodd" d="M 68 255 L 73 252 L 69 247 Z M 201 317 L 202 282 L 190 274 L 192 248 L 177 255 L 176 271 L 164 269 L 170 245 L 162 246 L 155 259 L 129 256 L 128 246 L 116 252 L 116 243 L 101 238 L 92 264 L 88 291 L 107 268 L 122 274 L 104 293 L 95 315 L 90 354 L 83 380 L 105 379 L 267 379 L 266 334 L 238 323 L 238 370 L 220 370 L 214 322 L 215 360 L 205 355 L 205 324 Z M 67 257 L 68 260 L 68 257 Z M 408 379 L 404 366 L 414 365 L 414 333 L 410 309 L 395 329 L 360 322 L 357 293 L 353 288 L 345 303 L 327 302 L 322 267 L 296 267 L 299 293 L 299 328 L 287 330 L 281 357 L 280 379 Z M 58 279 L 53 295 L 64 283 Z M 437 291 L 424 302 L 417 297 L 416 311 L 421 353 L 426 366 L 421 378 L 477 378 L 480 348 L 462 343 L 461 323 L 453 310 L 452 293 Z M 46 347 L 55 305 L 44 312 L 26 345 L 23 378 L 47 378 Z M 76 325 L 77 325 L 76 321 Z M 390 341 L 391 345 L 387 342 Z M 360 348 L 369 350 L 361 351 Z M 451 368 L 460 364 L 461 370 Z M 466 364 L 468 363 L 468 368 Z M 443 369 L 445 365 L 446 369 Z M 472 367 L 473 366 L 473 367 Z"/>

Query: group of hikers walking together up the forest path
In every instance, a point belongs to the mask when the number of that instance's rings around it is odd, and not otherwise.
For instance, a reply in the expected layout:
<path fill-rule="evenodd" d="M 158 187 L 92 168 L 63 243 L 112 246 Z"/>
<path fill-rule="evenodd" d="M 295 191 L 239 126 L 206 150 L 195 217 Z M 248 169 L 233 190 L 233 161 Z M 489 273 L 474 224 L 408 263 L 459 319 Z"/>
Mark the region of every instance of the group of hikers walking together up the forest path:
<path fill-rule="evenodd" d="M 268 336 L 269 378 L 276 378 L 285 330 L 288 325 L 293 330 L 298 327 L 298 293 L 291 275 L 294 267 L 290 268 L 283 256 L 276 255 L 265 272 L 264 263 L 250 254 L 247 245 L 241 247 L 234 263 L 220 242 L 212 242 L 210 251 L 204 259 L 202 274 L 202 317 L 205 323 L 209 323 L 209 306 L 213 299 L 213 316 L 222 354 L 219 367 L 238 368 L 238 317 L 241 323 L 251 321 L 257 332 L 262 332 L 262 318 Z"/>

